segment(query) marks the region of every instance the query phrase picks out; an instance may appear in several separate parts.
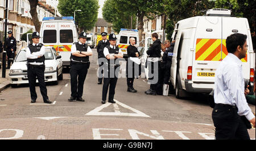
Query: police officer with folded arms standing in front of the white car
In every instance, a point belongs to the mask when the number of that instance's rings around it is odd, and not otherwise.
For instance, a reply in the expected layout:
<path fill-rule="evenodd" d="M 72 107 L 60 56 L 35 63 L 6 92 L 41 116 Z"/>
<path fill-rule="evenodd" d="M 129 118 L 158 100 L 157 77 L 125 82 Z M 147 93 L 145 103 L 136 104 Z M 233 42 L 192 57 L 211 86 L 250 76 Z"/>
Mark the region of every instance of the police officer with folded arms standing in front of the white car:
<path fill-rule="evenodd" d="M 39 43 L 39 33 L 32 33 L 32 41 L 33 43 L 28 45 L 27 47 L 27 77 L 28 83 L 30 85 L 30 95 L 31 95 L 31 103 L 36 102 L 36 77 L 38 78 L 39 87 L 41 94 L 43 96 L 44 103 L 51 104 L 52 102 L 49 100 L 47 96 L 46 82 L 44 82 L 44 69 L 46 66 L 44 65 L 44 45 Z"/>

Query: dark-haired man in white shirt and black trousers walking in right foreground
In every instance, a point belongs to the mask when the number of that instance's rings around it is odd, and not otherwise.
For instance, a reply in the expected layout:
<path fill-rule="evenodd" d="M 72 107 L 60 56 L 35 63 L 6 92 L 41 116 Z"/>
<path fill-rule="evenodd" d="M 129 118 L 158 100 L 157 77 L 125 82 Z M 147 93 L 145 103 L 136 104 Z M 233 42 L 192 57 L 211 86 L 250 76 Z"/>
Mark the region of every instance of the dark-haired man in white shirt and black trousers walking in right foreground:
<path fill-rule="evenodd" d="M 249 140 L 245 116 L 255 127 L 255 116 L 245 98 L 245 80 L 242 75 L 242 61 L 247 52 L 247 36 L 234 33 L 226 39 L 228 56 L 216 70 L 212 119 L 216 127 L 215 137 L 222 139 Z"/>

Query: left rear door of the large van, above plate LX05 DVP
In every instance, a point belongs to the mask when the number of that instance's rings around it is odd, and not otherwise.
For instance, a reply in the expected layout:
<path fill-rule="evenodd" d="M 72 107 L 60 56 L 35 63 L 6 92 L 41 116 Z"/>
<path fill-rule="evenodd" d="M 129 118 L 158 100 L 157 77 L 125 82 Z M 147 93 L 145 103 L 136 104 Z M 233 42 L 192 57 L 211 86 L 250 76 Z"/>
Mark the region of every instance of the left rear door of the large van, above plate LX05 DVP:
<path fill-rule="evenodd" d="M 194 41 L 192 87 L 213 88 L 222 47 L 221 17 L 200 17 Z"/>

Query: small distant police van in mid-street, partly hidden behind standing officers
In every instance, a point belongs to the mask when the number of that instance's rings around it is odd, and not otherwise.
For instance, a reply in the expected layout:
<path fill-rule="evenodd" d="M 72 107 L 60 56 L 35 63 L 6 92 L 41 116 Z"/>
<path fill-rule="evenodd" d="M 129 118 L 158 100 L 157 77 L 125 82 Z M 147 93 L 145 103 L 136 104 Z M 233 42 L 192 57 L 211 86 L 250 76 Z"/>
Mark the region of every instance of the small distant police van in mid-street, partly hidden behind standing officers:
<path fill-rule="evenodd" d="M 129 30 L 125 28 L 121 28 L 118 39 L 117 39 L 117 45 L 119 49 L 123 52 L 123 57 L 127 57 L 127 47 L 130 45 L 130 37 L 134 37 L 136 43 L 135 47 L 138 47 L 139 45 L 139 32 L 138 30 Z"/>

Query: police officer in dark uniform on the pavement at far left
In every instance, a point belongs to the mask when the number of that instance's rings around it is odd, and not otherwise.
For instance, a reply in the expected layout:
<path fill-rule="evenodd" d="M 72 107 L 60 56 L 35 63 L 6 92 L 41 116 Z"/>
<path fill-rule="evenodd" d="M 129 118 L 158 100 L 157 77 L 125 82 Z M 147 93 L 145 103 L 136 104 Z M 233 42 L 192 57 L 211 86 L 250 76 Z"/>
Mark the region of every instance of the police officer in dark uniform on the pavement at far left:
<path fill-rule="evenodd" d="M 7 53 L 7 68 L 10 69 L 11 62 L 14 62 L 16 51 L 16 39 L 13 37 L 13 32 L 8 32 L 8 37 L 6 39 L 6 53 Z"/>

